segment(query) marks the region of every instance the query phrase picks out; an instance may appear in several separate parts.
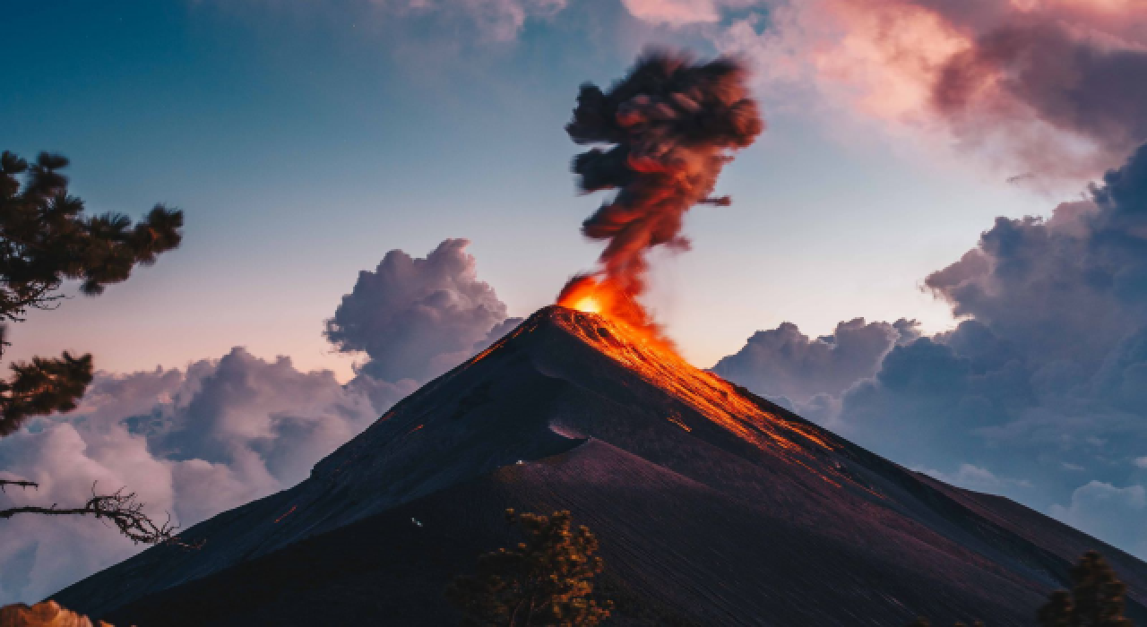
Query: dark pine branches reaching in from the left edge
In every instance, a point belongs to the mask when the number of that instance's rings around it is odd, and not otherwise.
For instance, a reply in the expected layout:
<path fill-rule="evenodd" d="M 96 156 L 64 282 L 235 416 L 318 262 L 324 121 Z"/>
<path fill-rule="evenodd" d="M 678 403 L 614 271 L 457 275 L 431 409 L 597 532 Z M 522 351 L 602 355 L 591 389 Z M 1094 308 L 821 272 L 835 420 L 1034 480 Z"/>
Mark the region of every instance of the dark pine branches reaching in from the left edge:
<path fill-rule="evenodd" d="M 86 214 L 84 202 L 68 194 L 68 178 L 60 172 L 67 166 L 67 158 L 48 152 L 32 164 L 8 151 L 0 155 L 0 358 L 10 345 L 6 324 L 23 322 L 29 309 L 58 306 L 65 281 L 79 282 L 84 295 L 99 296 L 182 240 L 182 211 L 163 205 L 135 224 L 120 213 Z M 11 375 L 0 379 L 0 437 L 33 416 L 75 409 L 92 383 L 93 362 L 89 354 L 64 351 L 58 358 L 34 356 L 9 368 Z M 0 479 L 0 489 L 5 487 L 38 486 Z M 153 523 L 135 495 L 123 489 L 101 495 L 93 486 L 83 507 L 9 508 L 0 510 L 0 519 L 17 514 L 94 516 L 136 542 L 174 538 L 174 527 Z"/>

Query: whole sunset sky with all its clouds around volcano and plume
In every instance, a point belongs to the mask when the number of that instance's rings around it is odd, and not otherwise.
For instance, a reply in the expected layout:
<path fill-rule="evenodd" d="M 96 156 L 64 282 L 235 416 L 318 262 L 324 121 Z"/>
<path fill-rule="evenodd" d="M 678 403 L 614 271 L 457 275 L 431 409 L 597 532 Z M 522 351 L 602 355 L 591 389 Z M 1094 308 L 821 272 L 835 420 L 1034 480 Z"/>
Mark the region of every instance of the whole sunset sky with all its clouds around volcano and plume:
<path fill-rule="evenodd" d="M 128 282 L 11 327 L 9 359 L 92 352 L 102 373 L 0 441 L 0 471 L 60 500 L 132 485 L 182 524 L 305 477 L 594 268 L 579 227 L 602 198 L 578 194 L 563 127 L 582 83 L 656 44 L 742 55 L 767 123 L 717 183 L 733 204 L 655 253 L 647 303 L 681 352 L 1147 556 L 1140 7 L 11 2 L 0 149 L 67 155 L 89 211 L 162 202 L 187 227 Z M 138 550 L 21 528 L 0 602 Z"/>

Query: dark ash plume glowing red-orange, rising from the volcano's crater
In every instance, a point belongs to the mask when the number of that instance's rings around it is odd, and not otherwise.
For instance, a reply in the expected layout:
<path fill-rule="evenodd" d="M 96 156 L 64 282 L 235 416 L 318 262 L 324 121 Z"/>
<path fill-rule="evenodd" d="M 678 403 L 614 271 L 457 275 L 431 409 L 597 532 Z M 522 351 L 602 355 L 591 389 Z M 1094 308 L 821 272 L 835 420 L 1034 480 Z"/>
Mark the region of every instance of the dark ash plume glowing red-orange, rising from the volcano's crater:
<path fill-rule="evenodd" d="M 729 203 L 710 196 L 717 177 L 728 152 L 765 127 L 747 78 L 734 58 L 699 64 L 682 52 L 651 49 L 608 92 L 582 86 L 565 131 L 579 144 L 612 147 L 578 155 L 572 170 L 586 193 L 618 191 L 582 225 L 586 237 L 606 242 L 601 269 L 575 276 L 560 304 L 593 293 L 604 313 L 658 335 L 638 303 L 647 254 L 658 245 L 688 249 L 681 221 L 693 205 Z"/>

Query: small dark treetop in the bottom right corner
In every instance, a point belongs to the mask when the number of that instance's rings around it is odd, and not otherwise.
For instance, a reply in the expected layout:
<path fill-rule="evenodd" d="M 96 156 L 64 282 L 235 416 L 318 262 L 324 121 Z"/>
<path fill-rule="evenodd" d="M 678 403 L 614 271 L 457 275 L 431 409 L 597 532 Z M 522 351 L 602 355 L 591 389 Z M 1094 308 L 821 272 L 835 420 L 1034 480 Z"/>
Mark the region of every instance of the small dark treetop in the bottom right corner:
<path fill-rule="evenodd" d="M 1052 593 L 1039 610 L 1044 627 L 1131 627 L 1124 618 L 1126 586 L 1101 555 L 1087 551 L 1071 569 L 1071 591 Z"/>

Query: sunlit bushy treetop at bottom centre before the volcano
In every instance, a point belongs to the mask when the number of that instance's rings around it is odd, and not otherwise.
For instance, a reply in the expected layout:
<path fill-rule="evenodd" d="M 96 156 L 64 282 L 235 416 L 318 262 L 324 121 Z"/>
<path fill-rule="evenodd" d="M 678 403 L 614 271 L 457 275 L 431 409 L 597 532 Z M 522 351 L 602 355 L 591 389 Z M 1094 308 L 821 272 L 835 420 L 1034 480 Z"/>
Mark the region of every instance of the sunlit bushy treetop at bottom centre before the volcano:
<path fill-rule="evenodd" d="M 525 541 L 478 558 L 475 577 L 459 577 L 446 597 L 466 627 L 592 627 L 609 617 L 611 604 L 592 598 L 591 581 L 602 570 L 598 539 L 572 528 L 569 511 L 553 516 L 506 510 Z"/>

